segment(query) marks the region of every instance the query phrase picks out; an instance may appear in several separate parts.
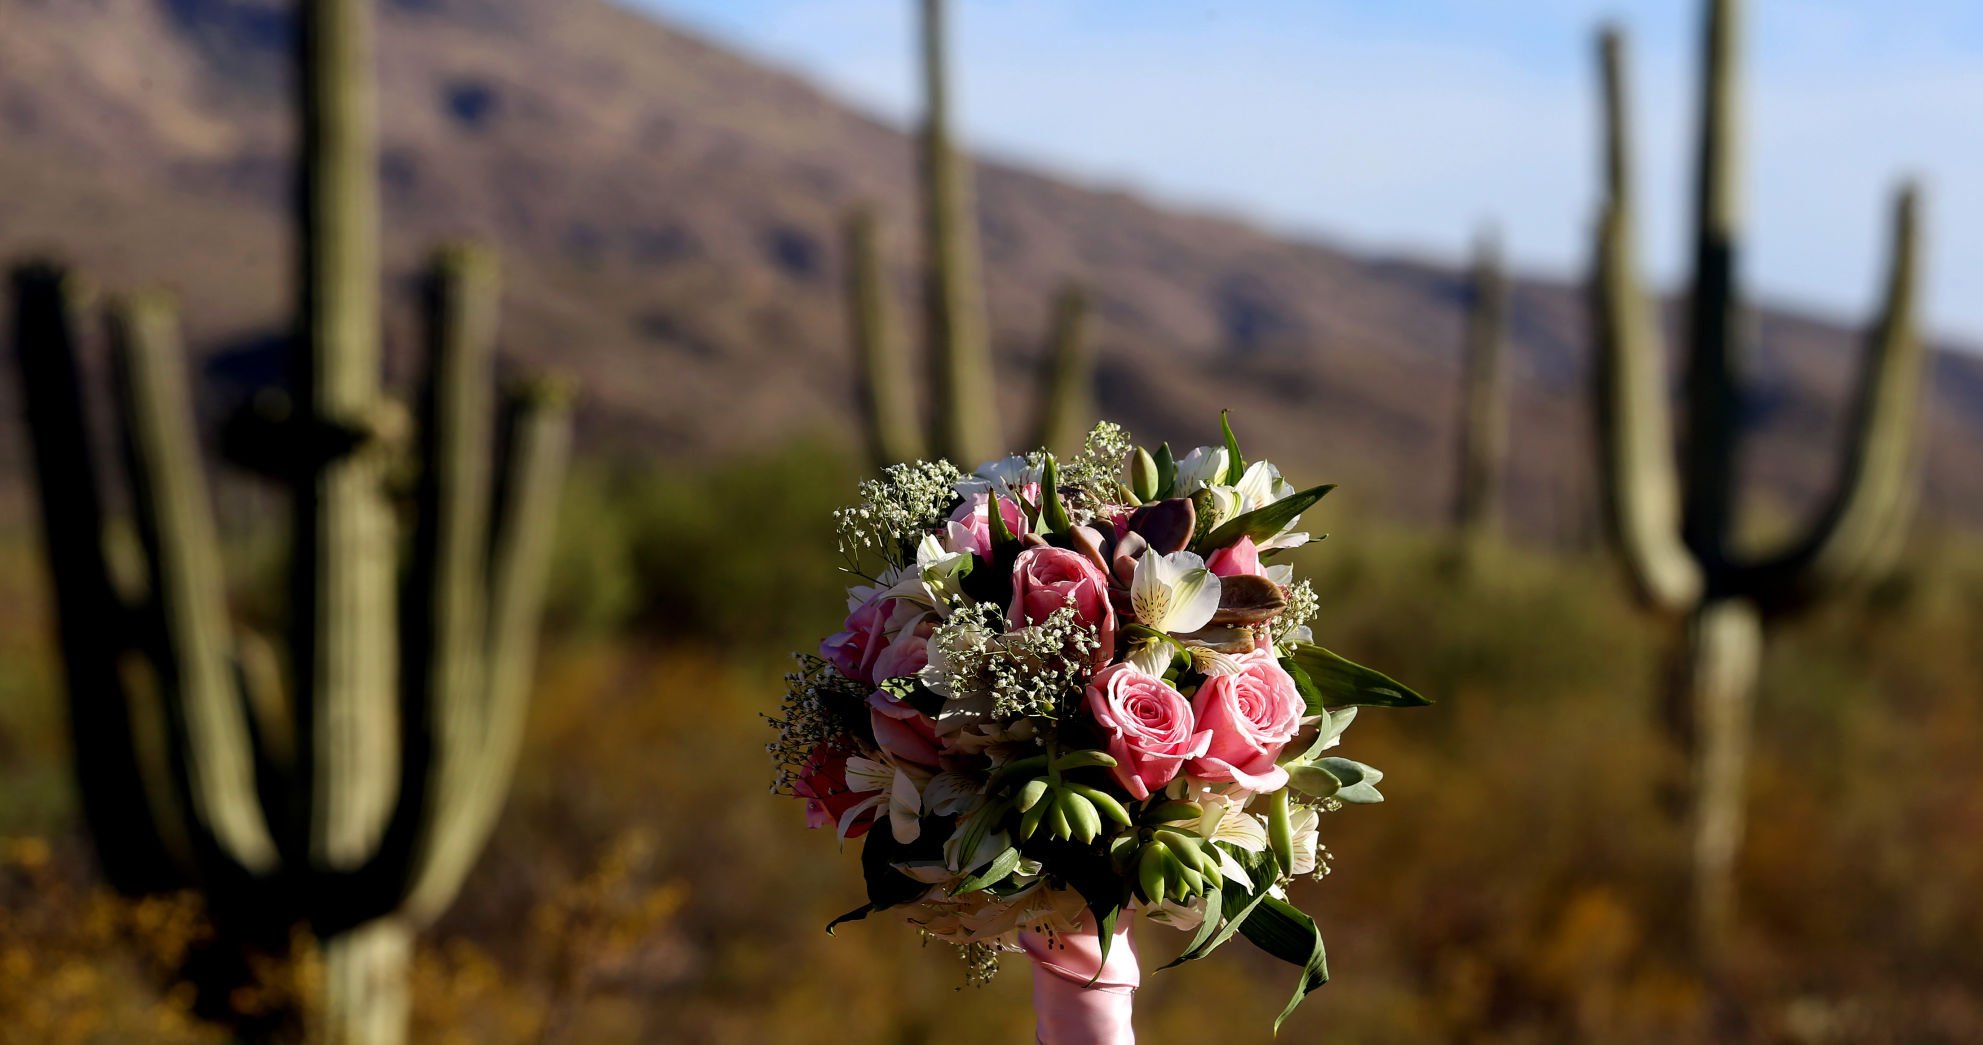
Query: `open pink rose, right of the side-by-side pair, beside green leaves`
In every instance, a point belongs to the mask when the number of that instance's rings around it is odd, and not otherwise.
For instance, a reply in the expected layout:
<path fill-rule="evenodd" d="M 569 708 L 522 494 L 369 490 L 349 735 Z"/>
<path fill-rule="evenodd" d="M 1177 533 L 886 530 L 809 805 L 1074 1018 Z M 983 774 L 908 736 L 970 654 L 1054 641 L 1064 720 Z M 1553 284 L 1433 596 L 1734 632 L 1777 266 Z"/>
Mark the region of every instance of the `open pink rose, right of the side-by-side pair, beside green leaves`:
<path fill-rule="evenodd" d="M 1273 759 L 1295 740 L 1307 704 L 1267 650 L 1237 660 L 1239 674 L 1214 674 L 1192 698 L 1198 728 L 1212 732 L 1212 746 L 1184 769 L 1198 779 L 1235 781 L 1247 791 L 1279 791 L 1287 769 Z"/>

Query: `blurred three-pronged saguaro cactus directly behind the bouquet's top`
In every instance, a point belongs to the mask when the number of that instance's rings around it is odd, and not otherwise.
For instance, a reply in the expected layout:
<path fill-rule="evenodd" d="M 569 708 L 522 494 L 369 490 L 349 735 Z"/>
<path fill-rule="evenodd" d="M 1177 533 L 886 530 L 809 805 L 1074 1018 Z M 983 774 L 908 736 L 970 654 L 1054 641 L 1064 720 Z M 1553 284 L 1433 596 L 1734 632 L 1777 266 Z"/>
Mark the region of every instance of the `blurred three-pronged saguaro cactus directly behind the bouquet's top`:
<path fill-rule="evenodd" d="M 861 371 L 861 410 L 876 464 L 922 456 L 924 450 L 960 464 L 1007 452 L 999 430 L 997 375 L 980 282 L 978 216 L 972 204 L 968 157 L 950 129 L 950 73 L 944 59 L 946 0 L 922 2 L 924 121 L 920 139 L 922 278 L 926 371 L 930 379 L 928 440 L 914 436 L 910 373 L 888 323 L 886 280 L 875 216 L 861 208 L 847 218 L 847 313 Z M 1043 446 L 1079 438 L 1091 420 L 1093 359 L 1085 339 L 1087 293 L 1065 288 L 1055 301 L 1047 369 L 1035 406 Z"/>

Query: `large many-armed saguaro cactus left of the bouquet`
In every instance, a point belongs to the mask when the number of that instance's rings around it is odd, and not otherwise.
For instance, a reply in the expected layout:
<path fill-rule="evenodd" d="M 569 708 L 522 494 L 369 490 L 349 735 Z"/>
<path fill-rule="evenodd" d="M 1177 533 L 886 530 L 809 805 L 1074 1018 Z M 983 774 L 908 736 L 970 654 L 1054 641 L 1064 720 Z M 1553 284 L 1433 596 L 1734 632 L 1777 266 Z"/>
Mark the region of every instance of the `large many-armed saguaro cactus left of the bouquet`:
<path fill-rule="evenodd" d="M 496 268 L 436 258 L 412 563 L 387 470 L 405 426 L 379 387 L 375 131 L 367 0 L 301 6 L 301 192 L 293 408 L 266 432 L 293 498 L 292 676 L 256 670 L 228 621 L 220 541 L 171 305 L 109 311 L 115 406 L 147 579 L 103 551 L 73 282 L 16 272 L 16 355 L 42 490 L 85 817 L 109 878 L 194 884 L 222 932 L 323 948 L 329 1043 L 397 1043 L 412 932 L 456 894 L 502 805 L 569 446 L 565 397 L 529 385 L 496 452 Z M 494 490 L 492 490 L 494 486 Z M 494 518 L 492 518 L 494 516 Z M 149 668 L 149 670 L 143 670 Z M 149 680 L 149 682 L 147 682 Z M 288 692 L 282 692 L 288 690 Z M 155 698 L 155 700 L 153 700 Z M 141 732 L 163 710 L 167 765 Z"/>

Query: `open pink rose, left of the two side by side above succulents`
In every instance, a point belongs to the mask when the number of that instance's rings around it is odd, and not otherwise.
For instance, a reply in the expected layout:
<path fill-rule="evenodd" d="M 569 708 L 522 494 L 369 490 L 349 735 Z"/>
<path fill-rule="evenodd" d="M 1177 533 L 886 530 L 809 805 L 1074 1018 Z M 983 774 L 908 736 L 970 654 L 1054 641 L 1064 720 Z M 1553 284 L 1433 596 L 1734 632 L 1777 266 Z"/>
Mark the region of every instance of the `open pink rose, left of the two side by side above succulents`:
<path fill-rule="evenodd" d="M 1108 771 L 1138 801 L 1170 783 L 1212 742 L 1212 734 L 1194 728 L 1184 694 L 1128 662 L 1095 674 L 1087 708 L 1116 759 Z"/>

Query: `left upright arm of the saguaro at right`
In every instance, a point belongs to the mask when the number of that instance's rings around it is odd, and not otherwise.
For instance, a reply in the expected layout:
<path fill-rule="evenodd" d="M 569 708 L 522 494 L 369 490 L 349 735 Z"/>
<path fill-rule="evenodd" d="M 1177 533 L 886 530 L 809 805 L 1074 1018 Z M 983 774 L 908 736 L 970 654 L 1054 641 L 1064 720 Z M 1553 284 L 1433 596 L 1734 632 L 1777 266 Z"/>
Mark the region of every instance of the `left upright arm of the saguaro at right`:
<path fill-rule="evenodd" d="M 1703 575 L 1680 539 L 1680 480 L 1660 335 L 1634 262 L 1626 56 L 1616 30 L 1604 32 L 1600 58 L 1612 198 L 1598 222 L 1592 286 L 1598 482 L 1612 535 L 1640 595 L 1680 611 L 1699 597 Z"/>

